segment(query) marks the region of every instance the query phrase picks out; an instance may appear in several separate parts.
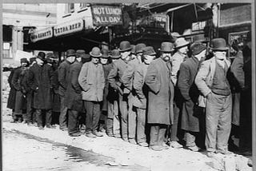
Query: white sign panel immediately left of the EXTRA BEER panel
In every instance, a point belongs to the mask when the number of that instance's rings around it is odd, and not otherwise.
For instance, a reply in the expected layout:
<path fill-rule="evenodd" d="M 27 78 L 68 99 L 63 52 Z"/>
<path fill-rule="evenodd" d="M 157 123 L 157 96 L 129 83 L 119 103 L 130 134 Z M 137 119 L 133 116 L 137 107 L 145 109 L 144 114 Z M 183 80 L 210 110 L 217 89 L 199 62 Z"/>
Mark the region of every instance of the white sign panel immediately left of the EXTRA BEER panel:
<path fill-rule="evenodd" d="M 53 37 L 52 28 L 46 28 L 44 30 L 35 30 L 33 34 L 30 35 L 31 42 L 37 42 L 46 38 Z"/>

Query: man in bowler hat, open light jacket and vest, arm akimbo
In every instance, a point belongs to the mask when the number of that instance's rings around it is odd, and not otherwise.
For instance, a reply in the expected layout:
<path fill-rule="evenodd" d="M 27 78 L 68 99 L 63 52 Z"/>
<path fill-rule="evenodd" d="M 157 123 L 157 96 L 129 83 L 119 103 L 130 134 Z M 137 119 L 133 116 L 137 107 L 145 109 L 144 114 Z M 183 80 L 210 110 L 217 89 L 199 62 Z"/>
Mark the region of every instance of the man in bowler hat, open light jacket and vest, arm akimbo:
<path fill-rule="evenodd" d="M 210 48 L 214 57 L 202 62 L 195 84 L 206 97 L 206 150 L 207 156 L 213 157 L 214 153 L 230 153 L 232 94 L 226 78 L 230 61 L 226 59 L 225 39 L 214 38 Z"/>

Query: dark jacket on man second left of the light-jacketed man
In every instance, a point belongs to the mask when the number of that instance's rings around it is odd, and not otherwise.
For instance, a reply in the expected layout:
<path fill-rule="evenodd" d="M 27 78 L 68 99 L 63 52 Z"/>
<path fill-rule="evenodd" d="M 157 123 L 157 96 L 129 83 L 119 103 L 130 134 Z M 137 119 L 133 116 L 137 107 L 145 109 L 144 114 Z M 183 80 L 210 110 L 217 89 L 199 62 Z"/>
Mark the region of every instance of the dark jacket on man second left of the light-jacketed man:
<path fill-rule="evenodd" d="M 59 95 L 64 97 L 67 89 L 67 78 L 70 72 L 70 62 L 64 61 L 58 66 Z"/>

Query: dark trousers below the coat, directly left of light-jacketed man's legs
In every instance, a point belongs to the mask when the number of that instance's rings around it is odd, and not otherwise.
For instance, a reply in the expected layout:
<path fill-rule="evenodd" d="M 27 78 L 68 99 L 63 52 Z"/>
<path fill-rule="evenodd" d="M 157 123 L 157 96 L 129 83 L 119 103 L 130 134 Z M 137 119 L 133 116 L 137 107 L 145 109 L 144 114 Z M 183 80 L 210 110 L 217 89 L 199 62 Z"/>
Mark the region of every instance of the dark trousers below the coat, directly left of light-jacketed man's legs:
<path fill-rule="evenodd" d="M 76 110 L 68 109 L 68 133 L 77 133 L 79 131 L 79 112 Z"/>

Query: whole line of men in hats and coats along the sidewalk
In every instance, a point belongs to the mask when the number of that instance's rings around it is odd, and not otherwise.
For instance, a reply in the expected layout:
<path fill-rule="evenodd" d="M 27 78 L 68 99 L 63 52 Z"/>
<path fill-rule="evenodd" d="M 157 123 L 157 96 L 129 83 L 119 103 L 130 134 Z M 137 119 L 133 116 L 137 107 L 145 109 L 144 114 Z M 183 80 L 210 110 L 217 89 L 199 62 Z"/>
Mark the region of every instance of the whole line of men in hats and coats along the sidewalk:
<path fill-rule="evenodd" d="M 61 62 L 39 52 L 12 70 L 7 107 L 14 122 L 38 129 L 58 124 L 71 137 L 105 132 L 155 151 L 205 148 L 213 157 L 231 153 L 234 135 L 248 152 L 250 34 L 234 46 L 234 62 L 228 49 L 224 38 L 195 36 L 162 42 L 159 56 L 152 46 L 128 41 L 115 50 L 95 46 L 90 54 L 67 50 Z"/>

